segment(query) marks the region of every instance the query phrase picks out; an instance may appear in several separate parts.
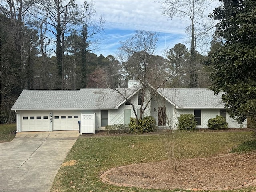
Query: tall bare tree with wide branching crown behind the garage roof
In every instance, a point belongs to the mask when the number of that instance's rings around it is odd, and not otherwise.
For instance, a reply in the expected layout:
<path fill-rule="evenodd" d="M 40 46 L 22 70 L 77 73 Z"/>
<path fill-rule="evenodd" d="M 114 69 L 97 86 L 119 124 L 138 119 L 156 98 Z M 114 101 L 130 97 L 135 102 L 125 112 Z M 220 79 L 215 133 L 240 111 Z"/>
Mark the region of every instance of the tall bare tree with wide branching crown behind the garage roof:
<path fill-rule="evenodd" d="M 52 35 L 52 40 L 56 43 L 56 62 L 59 83 L 57 88 L 64 88 L 65 84 L 65 63 L 64 52 L 66 50 L 66 38 L 72 32 L 82 34 L 83 42 L 79 46 L 84 45 L 88 47 L 88 37 L 96 34 L 102 30 L 102 20 L 100 27 L 88 26 L 90 24 L 90 17 L 95 14 L 94 4 L 87 4 L 85 1 L 83 5 L 78 6 L 75 0 L 40 0 L 36 2 L 37 12 L 35 16 L 38 20 L 46 20 L 47 30 Z M 82 26 L 82 28 L 81 28 Z M 88 33 L 90 31 L 91 33 Z M 86 54 L 86 53 L 85 53 Z"/>

